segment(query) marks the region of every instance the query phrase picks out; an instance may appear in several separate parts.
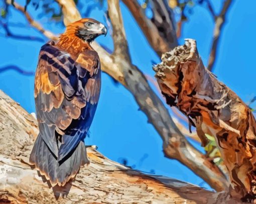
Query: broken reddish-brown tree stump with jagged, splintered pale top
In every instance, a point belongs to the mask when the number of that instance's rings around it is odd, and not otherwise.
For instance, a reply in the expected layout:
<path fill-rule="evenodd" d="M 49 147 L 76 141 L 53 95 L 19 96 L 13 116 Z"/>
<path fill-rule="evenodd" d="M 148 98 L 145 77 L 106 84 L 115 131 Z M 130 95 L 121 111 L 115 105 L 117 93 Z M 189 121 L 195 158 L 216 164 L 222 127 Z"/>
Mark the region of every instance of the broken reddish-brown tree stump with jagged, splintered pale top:
<path fill-rule="evenodd" d="M 231 195 L 254 199 L 256 122 L 249 108 L 205 69 L 194 40 L 164 54 L 154 70 L 167 103 L 196 126 L 202 145 L 207 143 L 205 133 L 215 137 L 228 170 Z"/>

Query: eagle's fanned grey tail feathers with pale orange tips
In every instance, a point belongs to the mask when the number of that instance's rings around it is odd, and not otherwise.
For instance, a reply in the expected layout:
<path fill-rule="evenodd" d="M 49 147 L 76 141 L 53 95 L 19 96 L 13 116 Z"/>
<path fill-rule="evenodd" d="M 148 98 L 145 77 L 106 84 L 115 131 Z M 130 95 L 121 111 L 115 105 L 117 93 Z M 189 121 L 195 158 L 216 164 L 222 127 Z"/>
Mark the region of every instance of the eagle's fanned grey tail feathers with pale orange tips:
<path fill-rule="evenodd" d="M 42 135 L 39 134 L 30 155 L 30 163 L 50 180 L 52 186 L 65 185 L 71 178 L 75 177 L 81 165 L 88 163 L 86 147 L 84 142 L 79 144 L 64 159 L 58 158 L 48 148 Z"/>

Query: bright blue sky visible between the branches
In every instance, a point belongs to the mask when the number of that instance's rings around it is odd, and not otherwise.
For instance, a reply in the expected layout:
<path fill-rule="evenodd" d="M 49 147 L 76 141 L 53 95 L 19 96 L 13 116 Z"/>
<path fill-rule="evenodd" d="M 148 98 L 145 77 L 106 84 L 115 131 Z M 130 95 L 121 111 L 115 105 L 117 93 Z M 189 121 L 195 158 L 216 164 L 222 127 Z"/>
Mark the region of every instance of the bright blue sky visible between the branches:
<path fill-rule="evenodd" d="M 22 0 L 16 2 L 25 5 L 25 1 Z M 218 13 L 223 1 L 212 0 L 212 3 L 214 10 Z M 0 0 L 0 6 L 2 4 Z M 78 5 L 83 17 L 87 17 L 85 15 L 88 5 L 92 5 L 92 2 L 87 1 L 86 4 Z M 256 69 L 253 60 L 256 52 L 255 8 L 256 1 L 254 0 L 247 0 L 246 3 L 234 1 L 231 5 L 220 37 L 213 70 L 218 79 L 245 102 L 256 95 L 254 85 Z M 41 22 L 45 29 L 55 34 L 64 32 L 65 28 L 61 23 L 48 22 L 47 16 L 40 17 L 40 9 L 35 11 L 29 5 L 28 12 L 34 19 Z M 160 59 L 149 46 L 129 10 L 122 3 L 121 12 L 132 61 L 145 74 L 153 77 L 152 62 L 158 63 Z M 150 11 L 147 12 L 151 15 Z M 104 9 L 94 8 L 89 17 L 106 25 Z M 179 43 L 183 44 L 186 38 L 195 39 L 202 60 L 207 65 L 214 28 L 212 17 L 202 6 L 195 6 L 193 14 L 188 17 L 188 21 L 183 24 Z M 34 76 L 25 76 L 14 70 L 3 71 L 1 69 L 15 65 L 28 72 L 35 72 L 40 47 L 47 42 L 47 39 L 35 29 L 30 28 L 24 16 L 13 8 L 10 8 L 8 21 L 12 33 L 43 39 L 39 42 L 8 38 L 0 25 L 0 89 L 32 113 L 35 112 Z M 99 37 L 97 41 L 112 50 L 110 35 L 111 31 L 106 38 Z M 153 89 L 156 90 L 155 87 Z M 97 145 L 98 150 L 108 158 L 118 162 L 123 162 L 125 159 L 126 165 L 147 173 L 166 175 L 209 188 L 187 167 L 176 160 L 164 157 L 160 136 L 154 127 L 147 123 L 146 115 L 138 108 L 133 95 L 103 73 L 100 101 L 90 128 L 90 137 L 85 140 L 86 144 Z M 191 142 L 202 151 L 198 143 Z"/>

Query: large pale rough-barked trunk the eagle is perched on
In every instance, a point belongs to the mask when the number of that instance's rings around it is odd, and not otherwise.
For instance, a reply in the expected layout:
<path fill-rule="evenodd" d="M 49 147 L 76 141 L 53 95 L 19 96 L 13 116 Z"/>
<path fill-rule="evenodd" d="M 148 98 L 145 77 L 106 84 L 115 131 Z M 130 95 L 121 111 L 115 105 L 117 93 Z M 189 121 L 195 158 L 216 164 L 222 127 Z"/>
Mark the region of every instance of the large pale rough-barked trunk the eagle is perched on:
<path fill-rule="evenodd" d="M 90 164 L 76 179 L 52 188 L 29 164 L 37 134 L 36 119 L 0 91 L 0 203 L 207 203 L 213 194 L 175 179 L 145 175 L 91 148 Z"/>

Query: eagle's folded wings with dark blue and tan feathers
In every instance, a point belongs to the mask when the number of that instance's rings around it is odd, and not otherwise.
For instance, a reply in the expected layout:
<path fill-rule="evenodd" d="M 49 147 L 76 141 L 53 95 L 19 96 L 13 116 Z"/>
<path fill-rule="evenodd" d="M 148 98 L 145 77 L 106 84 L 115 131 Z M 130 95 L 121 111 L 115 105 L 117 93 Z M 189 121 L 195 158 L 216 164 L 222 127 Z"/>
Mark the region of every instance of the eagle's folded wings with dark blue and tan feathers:
<path fill-rule="evenodd" d="M 85 138 L 99 92 L 100 63 L 95 51 L 73 60 L 53 41 L 41 48 L 35 77 L 36 111 L 40 134 L 58 161 Z"/>

